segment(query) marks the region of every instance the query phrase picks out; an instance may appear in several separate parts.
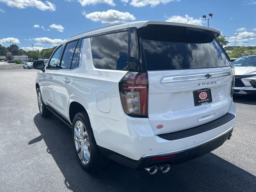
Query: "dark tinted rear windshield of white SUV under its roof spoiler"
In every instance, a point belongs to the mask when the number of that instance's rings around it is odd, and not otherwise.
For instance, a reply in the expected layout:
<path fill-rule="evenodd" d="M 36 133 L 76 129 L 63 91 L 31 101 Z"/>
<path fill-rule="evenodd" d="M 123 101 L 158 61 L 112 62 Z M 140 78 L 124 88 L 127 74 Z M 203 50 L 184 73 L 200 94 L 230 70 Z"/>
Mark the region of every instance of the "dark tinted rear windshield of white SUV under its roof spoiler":
<path fill-rule="evenodd" d="M 230 66 L 220 45 L 205 31 L 174 26 L 158 28 L 141 30 L 147 70 Z"/>

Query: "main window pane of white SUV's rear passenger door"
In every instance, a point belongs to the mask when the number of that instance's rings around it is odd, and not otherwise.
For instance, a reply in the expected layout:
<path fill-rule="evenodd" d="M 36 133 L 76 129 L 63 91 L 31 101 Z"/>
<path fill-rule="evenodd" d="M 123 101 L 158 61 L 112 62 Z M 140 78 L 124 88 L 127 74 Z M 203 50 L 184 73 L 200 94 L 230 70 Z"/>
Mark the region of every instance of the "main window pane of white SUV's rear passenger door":
<path fill-rule="evenodd" d="M 60 64 L 61 69 L 70 69 L 77 42 L 78 41 L 67 43 Z"/>

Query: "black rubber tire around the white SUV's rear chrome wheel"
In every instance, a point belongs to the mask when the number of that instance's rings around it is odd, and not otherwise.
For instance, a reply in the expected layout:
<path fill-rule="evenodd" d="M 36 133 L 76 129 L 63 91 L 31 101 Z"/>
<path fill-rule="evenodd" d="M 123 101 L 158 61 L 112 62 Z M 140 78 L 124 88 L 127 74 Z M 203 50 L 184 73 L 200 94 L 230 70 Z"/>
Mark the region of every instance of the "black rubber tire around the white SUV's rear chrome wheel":
<path fill-rule="evenodd" d="M 88 134 L 88 139 L 89 139 L 89 144 L 90 144 L 90 160 L 87 164 L 84 164 L 80 157 L 78 156 L 78 152 L 76 150 L 76 144 L 75 144 L 75 136 L 74 136 L 74 129 L 76 126 L 76 122 L 81 121 L 86 129 L 86 132 Z M 103 156 L 100 153 L 100 150 L 96 144 L 94 134 L 92 131 L 92 127 L 90 124 L 90 120 L 88 117 L 88 114 L 86 112 L 79 112 L 76 114 L 76 116 L 73 119 L 72 123 L 72 140 L 73 140 L 73 145 L 74 145 L 74 150 L 76 153 L 76 158 L 82 168 L 86 170 L 87 172 L 95 172 L 97 170 L 100 170 L 101 168 L 105 167 L 109 163 L 109 159 Z"/>

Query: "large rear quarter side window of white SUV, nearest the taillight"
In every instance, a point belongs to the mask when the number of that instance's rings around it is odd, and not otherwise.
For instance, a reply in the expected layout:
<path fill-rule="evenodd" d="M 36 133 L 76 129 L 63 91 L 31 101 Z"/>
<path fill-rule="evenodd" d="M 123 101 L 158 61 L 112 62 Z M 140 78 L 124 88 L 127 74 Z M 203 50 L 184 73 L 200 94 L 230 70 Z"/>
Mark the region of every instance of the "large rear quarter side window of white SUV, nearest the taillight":
<path fill-rule="evenodd" d="M 99 69 L 128 70 L 128 32 L 92 37 L 92 59 Z"/>

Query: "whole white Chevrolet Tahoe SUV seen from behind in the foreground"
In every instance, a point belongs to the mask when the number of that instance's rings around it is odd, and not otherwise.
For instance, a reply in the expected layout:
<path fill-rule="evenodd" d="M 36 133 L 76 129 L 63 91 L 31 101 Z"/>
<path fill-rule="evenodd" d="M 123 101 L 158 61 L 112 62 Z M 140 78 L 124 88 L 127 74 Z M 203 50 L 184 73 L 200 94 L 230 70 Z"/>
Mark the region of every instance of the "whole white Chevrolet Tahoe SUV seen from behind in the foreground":
<path fill-rule="evenodd" d="M 34 62 L 38 106 L 72 128 L 88 172 L 109 159 L 150 174 L 230 139 L 234 70 L 220 31 L 122 22 L 73 36 Z"/>

